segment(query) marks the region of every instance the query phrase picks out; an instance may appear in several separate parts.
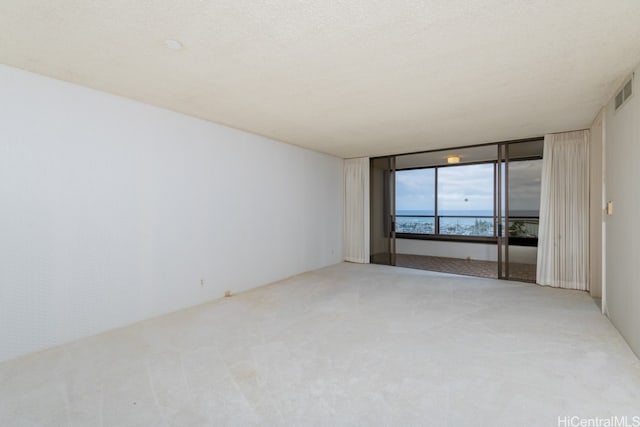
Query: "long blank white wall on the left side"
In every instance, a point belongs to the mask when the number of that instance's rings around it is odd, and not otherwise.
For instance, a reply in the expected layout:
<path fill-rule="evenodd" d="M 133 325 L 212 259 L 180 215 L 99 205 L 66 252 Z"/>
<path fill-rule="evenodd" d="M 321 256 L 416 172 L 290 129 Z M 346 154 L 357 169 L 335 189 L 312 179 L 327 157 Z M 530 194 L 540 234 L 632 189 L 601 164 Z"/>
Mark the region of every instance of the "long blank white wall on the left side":
<path fill-rule="evenodd" d="M 342 159 L 5 66 L 0 100 L 0 360 L 342 260 Z"/>

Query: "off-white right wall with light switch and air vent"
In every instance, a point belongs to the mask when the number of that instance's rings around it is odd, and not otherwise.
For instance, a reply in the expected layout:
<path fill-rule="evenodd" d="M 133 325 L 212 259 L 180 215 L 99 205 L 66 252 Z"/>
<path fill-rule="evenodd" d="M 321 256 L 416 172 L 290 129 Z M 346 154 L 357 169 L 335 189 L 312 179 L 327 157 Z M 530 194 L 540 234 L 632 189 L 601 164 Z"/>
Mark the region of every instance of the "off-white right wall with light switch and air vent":
<path fill-rule="evenodd" d="M 635 71 L 640 76 L 640 68 Z M 636 354 L 640 355 L 640 87 L 618 111 L 609 102 L 605 119 L 606 309 Z"/>

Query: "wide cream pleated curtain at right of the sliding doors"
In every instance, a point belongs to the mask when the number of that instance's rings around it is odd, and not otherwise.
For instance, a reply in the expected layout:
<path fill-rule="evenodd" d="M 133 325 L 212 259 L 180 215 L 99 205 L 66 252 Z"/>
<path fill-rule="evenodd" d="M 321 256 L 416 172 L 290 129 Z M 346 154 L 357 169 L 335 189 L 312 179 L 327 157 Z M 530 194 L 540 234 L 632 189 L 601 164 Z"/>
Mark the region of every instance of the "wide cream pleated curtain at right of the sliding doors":
<path fill-rule="evenodd" d="M 589 131 L 545 135 L 537 282 L 589 290 Z"/>

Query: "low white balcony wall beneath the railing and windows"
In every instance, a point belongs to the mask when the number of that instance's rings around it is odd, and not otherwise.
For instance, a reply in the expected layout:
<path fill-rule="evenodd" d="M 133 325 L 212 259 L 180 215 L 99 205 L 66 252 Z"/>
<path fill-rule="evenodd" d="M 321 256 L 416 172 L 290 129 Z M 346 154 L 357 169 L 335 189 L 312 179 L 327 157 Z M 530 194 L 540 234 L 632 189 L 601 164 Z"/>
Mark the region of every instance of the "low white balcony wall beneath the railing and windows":
<path fill-rule="evenodd" d="M 399 254 L 428 255 L 448 258 L 471 257 L 476 261 L 497 261 L 496 245 L 486 243 L 447 242 L 441 240 L 397 239 Z M 535 264 L 537 248 L 510 246 L 509 262 Z"/>

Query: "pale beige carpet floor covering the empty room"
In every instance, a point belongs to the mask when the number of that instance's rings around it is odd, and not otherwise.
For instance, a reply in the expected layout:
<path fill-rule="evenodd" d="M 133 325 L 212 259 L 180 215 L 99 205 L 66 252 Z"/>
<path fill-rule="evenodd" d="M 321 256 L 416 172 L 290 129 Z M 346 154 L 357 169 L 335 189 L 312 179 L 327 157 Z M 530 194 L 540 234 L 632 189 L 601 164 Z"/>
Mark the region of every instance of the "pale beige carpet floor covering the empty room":
<path fill-rule="evenodd" d="M 0 364 L 8 427 L 625 415 L 640 415 L 640 363 L 586 292 L 381 265 L 338 264 Z"/>

